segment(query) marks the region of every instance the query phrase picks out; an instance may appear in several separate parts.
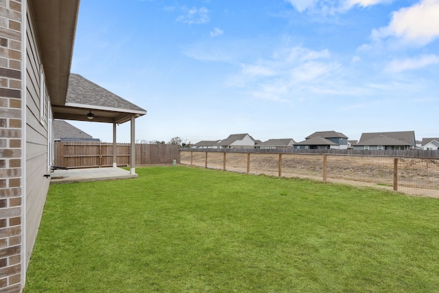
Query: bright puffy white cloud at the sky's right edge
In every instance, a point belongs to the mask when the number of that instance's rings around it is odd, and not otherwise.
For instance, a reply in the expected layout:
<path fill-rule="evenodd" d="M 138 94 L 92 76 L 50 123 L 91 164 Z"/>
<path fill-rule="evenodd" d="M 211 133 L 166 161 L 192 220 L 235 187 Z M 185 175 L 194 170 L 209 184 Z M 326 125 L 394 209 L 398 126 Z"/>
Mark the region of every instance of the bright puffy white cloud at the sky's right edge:
<path fill-rule="evenodd" d="M 387 27 L 372 31 L 374 40 L 397 38 L 403 43 L 426 45 L 439 36 L 439 0 L 423 0 L 393 12 Z"/>

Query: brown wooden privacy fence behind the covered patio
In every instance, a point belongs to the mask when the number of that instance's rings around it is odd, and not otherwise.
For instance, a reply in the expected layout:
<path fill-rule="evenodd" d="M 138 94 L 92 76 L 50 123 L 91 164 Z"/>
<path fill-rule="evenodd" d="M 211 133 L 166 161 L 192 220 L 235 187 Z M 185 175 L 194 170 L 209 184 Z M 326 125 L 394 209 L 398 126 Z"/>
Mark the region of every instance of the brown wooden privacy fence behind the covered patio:
<path fill-rule="evenodd" d="M 136 143 L 137 166 L 180 163 L 180 146 Z M 130 143 L 117 143 L 117 165 L 130 165 Z M 56 166 L 74 168 L 112 167 L 112 143 L 55 142 Z"/>

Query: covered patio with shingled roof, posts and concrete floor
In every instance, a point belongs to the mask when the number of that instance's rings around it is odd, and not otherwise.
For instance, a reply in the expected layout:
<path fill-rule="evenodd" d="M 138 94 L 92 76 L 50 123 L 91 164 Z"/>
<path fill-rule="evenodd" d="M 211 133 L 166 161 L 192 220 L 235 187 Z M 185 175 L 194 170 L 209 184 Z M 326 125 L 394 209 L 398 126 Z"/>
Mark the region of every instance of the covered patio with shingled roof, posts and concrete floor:
<path fill-rule="evenodd" d="M 124 169 L 117 168 L 117 125 L 130 121 L 130 171 L 129 175 L 137 176 L 135 172 L 135 119 L 146 114 L 143 108 L 128 102 L 126 99 L 111 93 L 102 86 L 87 80 L 82 75 L 71 73 L 69 87 L 65 102 L 52 104 L 54 119 L 66 119 L 76 121 L 91 121 L 112 124 L 112 167 L 102 168 L 102 171 L 88 172 L 100 174 L 100 172 L 123 174 Z M 69 167 L 69 166 L 62 166 Z M 97 168 L 98 169 L 98 168 Z M 110 169 L 120 169 L 118 171 Z M 73 172 L 74 171 L 74 172 Z M 56 177 L 76 176 L 80 170 L 55 170 L 52 180 L 60 180 Z M 119 175 L 115 175 L 119 176 Z M 100 178 L 97 176 L 96 178 Z"/>

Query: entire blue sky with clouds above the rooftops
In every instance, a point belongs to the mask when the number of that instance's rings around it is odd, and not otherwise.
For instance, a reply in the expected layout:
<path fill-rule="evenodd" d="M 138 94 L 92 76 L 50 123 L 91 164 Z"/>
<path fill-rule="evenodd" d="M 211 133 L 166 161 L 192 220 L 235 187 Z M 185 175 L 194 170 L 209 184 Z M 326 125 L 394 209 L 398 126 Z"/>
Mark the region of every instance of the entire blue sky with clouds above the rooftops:
<path fill-rule="evenodd" d="M 439 137 L 438 39 L 439 0 L 84 0 L 71 71 L 147 110 L 139 140 L 420 140 Z"/>

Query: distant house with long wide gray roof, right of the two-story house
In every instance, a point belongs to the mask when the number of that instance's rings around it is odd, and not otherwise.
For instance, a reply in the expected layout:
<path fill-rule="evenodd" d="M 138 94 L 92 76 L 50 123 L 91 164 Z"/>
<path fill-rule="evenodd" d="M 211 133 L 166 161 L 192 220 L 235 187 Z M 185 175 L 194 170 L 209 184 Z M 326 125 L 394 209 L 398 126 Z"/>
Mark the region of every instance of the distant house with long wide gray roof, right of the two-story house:
<path fill-rule="evenodd" d="M 361 134 L 354 150 L 410 150 L 416 148 L 414 131 Z"/>

